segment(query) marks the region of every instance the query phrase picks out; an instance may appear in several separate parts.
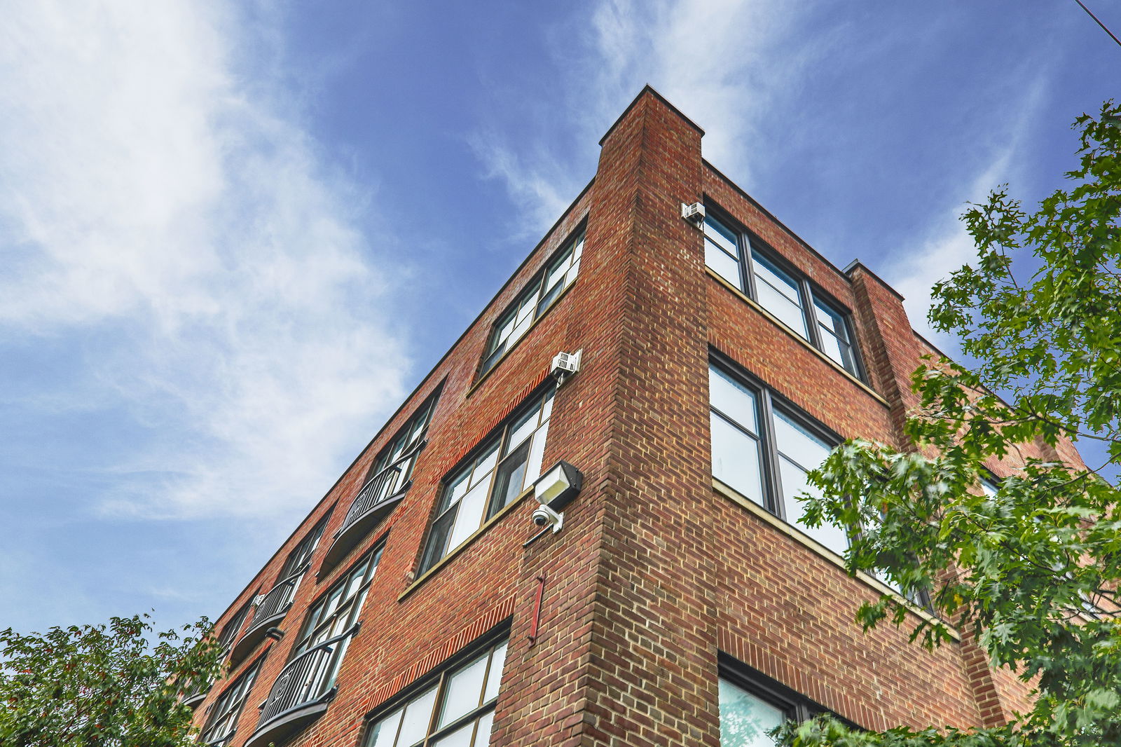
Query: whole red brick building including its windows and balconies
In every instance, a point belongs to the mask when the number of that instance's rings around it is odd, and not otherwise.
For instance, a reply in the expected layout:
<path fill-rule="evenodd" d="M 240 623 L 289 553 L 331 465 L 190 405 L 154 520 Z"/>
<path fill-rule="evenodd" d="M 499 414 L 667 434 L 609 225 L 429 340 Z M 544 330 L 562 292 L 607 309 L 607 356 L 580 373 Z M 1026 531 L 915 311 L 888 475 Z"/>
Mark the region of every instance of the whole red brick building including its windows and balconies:
<path fill-rule="evenodd" d="M 594 179 L 220 618 L 203 741 L 739 747 L 821 711 L 1023 707 L 969 639 L 853 622 L 889 588 L 849 578 L 844 534 L 802 528 L 791 496 L 842 439 L 900 442 L 929 345 L 702 135 L 650 89 L 611 127 Z M 534 481 L 558 460 L 583 487 L 553 532 Z"/>

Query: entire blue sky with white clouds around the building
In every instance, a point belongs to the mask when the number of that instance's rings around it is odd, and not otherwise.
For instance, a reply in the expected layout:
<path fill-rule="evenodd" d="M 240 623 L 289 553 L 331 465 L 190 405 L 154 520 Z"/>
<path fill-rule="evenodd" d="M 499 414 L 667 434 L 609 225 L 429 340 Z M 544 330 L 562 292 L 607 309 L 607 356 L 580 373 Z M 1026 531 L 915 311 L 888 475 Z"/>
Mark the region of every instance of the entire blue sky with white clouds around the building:
<path fill-rule="evenodd" d="M 220 614 L 591 178 L 645 83 L 921 329 L 970 256 L 964 204 L 1055 188 L 1071 122 L 1119 72 L 1073 0 L 17 0 L 0 627 Z"/>

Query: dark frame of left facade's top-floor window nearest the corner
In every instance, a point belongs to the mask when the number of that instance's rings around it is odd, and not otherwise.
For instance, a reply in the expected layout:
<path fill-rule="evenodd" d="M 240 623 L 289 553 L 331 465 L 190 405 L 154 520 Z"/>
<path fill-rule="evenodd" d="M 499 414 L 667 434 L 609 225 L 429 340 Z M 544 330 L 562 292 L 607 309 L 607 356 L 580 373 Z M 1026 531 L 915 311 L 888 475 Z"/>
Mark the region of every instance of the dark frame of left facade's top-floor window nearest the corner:
<path fill-rule="evenodd" d="M 576 278 L 580 276 L 580 262 L 583 259 L 584 243 L 587 238 L 587 223 L 586 220 L 582 221 L 560 243 L 560 246 L 549 255 L 548 259 L 544 262 L 540 269 L 538 269 L 526 285 L 518 292 L 518 295 L 511 301 L 502 313 L 499 314 L 493 324 L 491 324 L 490 332 L 487 335 L 487 344 L 483 348 L 482 358 L 479 361 L 479 370 L 475 375 L 476 380 L 485 376 L 488 372 L 493 370 L 499 361 L 501 361 L 506 356 L 518 347 L 518 343 L 529 333 L 534 324 L 537 323 L 553 306 L 556 302 L 564 295 L 564 292 L 576 283 Z M 548 277 L 557 269 L 560 261 L 567 257 L 576 255 L 577 248 L 580 249 L 578 256 L 574 259 L 568 259 L 568 269 L 565 270 L 565 276 L 572 268 L 575 267 L 576 271 L 573 273 L 572 279 L 565 280 L 564 277 L 560 278 L 555 285 L 545 287 L 545 282 Z M 556 293 L 550 292 L 556 289 Z M 532 296 L 532 312 L 528 321 L 526 321 L 526 329 L 513 338 L 513 331 L 518 329 L 517 320 L 518 312 L 522 306 L 529 303 L 530 296 Z M 501 332 L 506 328 L 508 322 L 513 322 L 511 331 L 507 335 L 502 335 Z M 511 340 L 511 338 L 513 338 Z"/>

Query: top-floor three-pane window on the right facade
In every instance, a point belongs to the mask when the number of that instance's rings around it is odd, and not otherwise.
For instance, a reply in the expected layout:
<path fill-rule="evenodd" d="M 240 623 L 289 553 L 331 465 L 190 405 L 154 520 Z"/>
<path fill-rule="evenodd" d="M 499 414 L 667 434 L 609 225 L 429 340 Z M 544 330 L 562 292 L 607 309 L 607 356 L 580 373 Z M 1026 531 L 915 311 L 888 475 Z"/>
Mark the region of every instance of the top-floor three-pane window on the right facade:
<path fill-rule="evenodd" d="M 708 211 L 704 221 L 704 258 L 714 273 L 754 298 L 798 336 L 860 377 L 846 314 L 835 308 L 808 280 L 784 269 L 756 248 L 731 221 Z"/>

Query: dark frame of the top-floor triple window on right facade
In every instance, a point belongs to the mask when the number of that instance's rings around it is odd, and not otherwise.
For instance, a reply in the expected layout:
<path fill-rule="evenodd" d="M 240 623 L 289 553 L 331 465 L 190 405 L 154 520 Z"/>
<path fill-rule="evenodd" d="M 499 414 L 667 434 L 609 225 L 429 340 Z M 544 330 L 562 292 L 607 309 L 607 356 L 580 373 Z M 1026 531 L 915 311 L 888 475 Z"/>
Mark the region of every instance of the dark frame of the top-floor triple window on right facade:
<path fill-rule="evenodd" d="M 795 336 L 799 338 L 804 342 L 809 343 L 815 350 L 821 352 L 823 356 L 828 358 L 831 361 L 840 366 L 843 370 L 855 377 L 862 382 L 868 381 L 868 372 L 864 368 L 863 360 L 860 354 L 860 345 L 856 343 L 855 325 L 852 320 L 852 312 L 847 310 L 843 304 L 837 302 L 836 298 L 825 293 L 816 284 L 812 283 L 805 273 L 795 267 L 788 259 L 776 251 L 770 245 L 763 241 L 757 233 L 747 229 L 742 223 L 732 218 L 726 211 L 712 204 L 705 204 L 705 221 L 711 218 L 721 225 L 723 225 L 728 231 L 735 237 L 735 248 L 738 256 L 735 261 L 740 271 L 739 284 L 736 289 L 740 293 L 747 295 L 751 301 L 759 304 L 767 313 L 782 324 L 784 328 L 794 332 Z M 704 224 L 701 227 L 702 234 L 704 234 Z M 702 239 L 707 241 L 708 239 Z M 719 251 L 724 251 L 722 248 L 717 248 Z M 724 251 L 724 253 L 728 253 Z M 766 262 L 775 266 L 780 273 L 786 275 L 798 289 L 798 305 L 802 312 L 803 324 L 806 329 L 806 334 L 802 334 L 798 330 L 791 328 L 789 324 L 784 322 L 776 312 L 771 311 L 759 299 L 759 289 L 756 282 L 756 268 L 754 268 L 754 257 L 753 253 L 758 253 Z M 720 277 L 729 280 L 720 270 L 708 265 L 705 261 L 705 267 L 719 275 Z M 729 280 L 731 283 L 731 280 Z M 852 358 L 852 368 L 850 369 L 844 365 L 842 360 L 836 360 L 826 352 L 826 345 L 824 343 L 824 338 L 822 330 L 818 329 L 821 322 L 817 319 L 816 305 L 821 304 L 826 310 L 836 314 L 840 319 L 842 329 L 845 333 L 844 343 L 847 344 L 849 354 Z M 836 336 L 834 334 L 834 336 Z M 840 339 L 840 338 L 839 338 Z M 839 347 L 840 348 L 840 347 Z M 844 356 L 842 356 L 844 358 Z"/>

